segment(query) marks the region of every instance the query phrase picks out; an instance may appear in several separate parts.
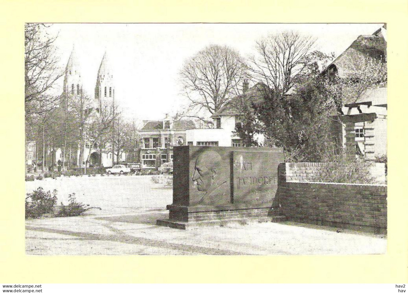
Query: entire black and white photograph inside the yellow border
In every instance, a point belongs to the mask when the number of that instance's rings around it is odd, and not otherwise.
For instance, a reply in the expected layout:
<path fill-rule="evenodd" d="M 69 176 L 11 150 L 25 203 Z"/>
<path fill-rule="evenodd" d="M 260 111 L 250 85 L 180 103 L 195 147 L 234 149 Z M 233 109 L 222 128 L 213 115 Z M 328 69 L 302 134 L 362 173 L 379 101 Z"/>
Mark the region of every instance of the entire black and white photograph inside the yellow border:
<path fill-rule="evenodd" d="M 24 48 L 26 255 L 386 253 L 386 23 L 27 22 Z"/>

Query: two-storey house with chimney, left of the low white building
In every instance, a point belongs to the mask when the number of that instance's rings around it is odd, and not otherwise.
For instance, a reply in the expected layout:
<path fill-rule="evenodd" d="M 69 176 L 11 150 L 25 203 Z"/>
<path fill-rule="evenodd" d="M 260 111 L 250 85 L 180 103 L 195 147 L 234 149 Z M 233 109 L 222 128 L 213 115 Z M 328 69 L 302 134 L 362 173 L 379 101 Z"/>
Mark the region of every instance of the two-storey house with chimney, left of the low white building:
<path fill-rule="evenodd" d="M 157 169 L 162 163 L 173 161 L 173 146 L 187 145 L 186 131 L 195 129 L 191 120 L 144 121 L 138 131 L 140 137 L 140 162 L 143 169 Z"/>

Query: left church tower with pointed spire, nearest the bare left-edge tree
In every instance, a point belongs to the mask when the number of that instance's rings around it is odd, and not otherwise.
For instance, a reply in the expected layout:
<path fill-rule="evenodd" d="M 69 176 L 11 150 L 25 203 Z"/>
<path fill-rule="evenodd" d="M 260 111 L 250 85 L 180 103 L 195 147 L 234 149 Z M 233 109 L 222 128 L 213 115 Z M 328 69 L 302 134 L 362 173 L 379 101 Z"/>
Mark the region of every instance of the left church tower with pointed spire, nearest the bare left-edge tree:
<path fill-rule="evenodd" d="M 74 101 L 82 94 L 81 69 L 75 47 L 72 48 L 64 73 L 64 90 L 60 99 L 61 108 L 69 108 L 69 101 Z"/>

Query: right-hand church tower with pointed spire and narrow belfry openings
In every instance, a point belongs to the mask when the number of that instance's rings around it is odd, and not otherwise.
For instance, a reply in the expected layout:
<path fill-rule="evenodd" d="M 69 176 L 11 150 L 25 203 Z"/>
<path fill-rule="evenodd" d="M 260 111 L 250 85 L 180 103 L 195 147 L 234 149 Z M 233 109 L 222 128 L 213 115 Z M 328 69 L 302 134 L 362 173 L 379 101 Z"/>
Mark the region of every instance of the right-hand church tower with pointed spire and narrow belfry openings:
<path fill-rule="evenodd" d="M 105 52 L 99 66 L 98 76 L 96 77 L 95 108 L 97 108 L 98 112 L 102 107 L 110 111 L 111 107 L 115 104 L 114 102 L 115 85 L 113 83 L 113 73 Z"/>

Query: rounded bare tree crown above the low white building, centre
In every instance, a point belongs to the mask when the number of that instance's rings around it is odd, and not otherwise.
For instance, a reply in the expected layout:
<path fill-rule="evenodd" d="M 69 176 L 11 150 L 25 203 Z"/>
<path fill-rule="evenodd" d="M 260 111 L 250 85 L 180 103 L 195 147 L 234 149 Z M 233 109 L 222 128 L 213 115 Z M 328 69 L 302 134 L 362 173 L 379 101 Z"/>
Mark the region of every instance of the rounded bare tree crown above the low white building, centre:
<path fill-rule="evenodd" d="M 194 114 L 189 117 L 202 119 L 204 113 L 214 114 L 239 93 L 246 65 L 233 48 L 210 45 L 184 62 L 180 76 L 190 102 L 188 112 Z"/>

